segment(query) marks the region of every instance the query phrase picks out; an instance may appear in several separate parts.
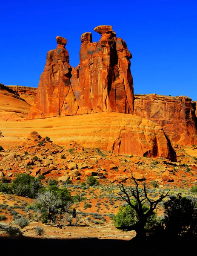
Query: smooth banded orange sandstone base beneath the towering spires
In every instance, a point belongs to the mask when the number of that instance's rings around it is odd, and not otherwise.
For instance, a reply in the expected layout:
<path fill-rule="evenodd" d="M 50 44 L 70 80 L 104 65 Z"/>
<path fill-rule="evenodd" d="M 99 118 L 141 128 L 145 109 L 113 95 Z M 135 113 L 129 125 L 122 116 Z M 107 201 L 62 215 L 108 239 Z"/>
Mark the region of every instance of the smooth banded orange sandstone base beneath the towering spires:
<path fill-rule="evenodd" d="M 72 141 L 87 148 L 101 148 L 116 154 L 166 157 L 176 160 L 176 154 L 163 129 L 139 116 L 102 112 L 77 116 L 0 123 L 3 147 L 17 145 L 17 138 L 27 137 L 31 131 L 48 136 L 58 145 Z M 15 140 L 14 140 L 15 139 Z"/>

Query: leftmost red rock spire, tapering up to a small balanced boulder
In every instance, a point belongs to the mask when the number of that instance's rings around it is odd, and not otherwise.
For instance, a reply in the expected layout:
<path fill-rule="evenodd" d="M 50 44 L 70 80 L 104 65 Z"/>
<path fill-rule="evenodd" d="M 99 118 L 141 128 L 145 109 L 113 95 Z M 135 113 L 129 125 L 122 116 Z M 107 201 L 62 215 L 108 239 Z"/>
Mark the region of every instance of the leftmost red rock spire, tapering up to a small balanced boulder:
<path fill-rule="evenodd" d="M 57 36 L 57 48 L 47 53 L 45 70 L 28 119 L 75 114 L 78 106 L 70 84 L 71 66 L 65 49 L 67 40 Z"/>

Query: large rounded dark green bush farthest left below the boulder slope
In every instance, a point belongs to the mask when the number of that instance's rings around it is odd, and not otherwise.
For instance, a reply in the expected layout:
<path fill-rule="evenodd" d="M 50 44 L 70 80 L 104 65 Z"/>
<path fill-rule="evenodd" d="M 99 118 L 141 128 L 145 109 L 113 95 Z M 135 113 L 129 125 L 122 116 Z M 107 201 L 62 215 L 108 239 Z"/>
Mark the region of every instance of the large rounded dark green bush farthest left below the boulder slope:
<path fill-rule="evenodd" d="M 35 198 L 41 184 L 35 177 L 21 173 L 13 180 L 11 188 L 16 195 Z"/>

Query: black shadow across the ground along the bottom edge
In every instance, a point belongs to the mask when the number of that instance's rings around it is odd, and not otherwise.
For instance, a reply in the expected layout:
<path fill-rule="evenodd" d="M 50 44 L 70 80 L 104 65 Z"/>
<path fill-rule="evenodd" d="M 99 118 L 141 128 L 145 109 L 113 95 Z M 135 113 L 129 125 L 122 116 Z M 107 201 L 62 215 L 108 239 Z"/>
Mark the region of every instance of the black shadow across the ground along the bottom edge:
<path fill-rule="evenodd" d="M 112 239 L 0 238 L 0 256 L 180 256 L 191 255 L 195 242 L 184 244 L 171 239 L 151 244 Z"/>

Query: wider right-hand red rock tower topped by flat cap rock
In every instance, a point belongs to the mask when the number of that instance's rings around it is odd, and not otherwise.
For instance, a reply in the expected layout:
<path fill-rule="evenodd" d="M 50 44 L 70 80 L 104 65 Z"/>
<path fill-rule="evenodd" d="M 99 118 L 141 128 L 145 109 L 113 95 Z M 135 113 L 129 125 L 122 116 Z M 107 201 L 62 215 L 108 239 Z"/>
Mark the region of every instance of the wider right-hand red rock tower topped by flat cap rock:
<path fill-rule="evenodd" d="M 80 65 L 71 80 L 79 105 L 77 114 L 133 113 L 131 53 L 125 41 L 116 38 L 112 26 L 97 26 L 94 30 L 101 39 L 92 43 L 91 33 L 81 36 Z"/>

